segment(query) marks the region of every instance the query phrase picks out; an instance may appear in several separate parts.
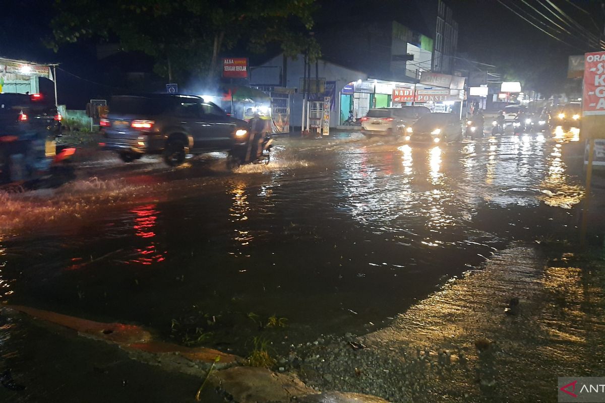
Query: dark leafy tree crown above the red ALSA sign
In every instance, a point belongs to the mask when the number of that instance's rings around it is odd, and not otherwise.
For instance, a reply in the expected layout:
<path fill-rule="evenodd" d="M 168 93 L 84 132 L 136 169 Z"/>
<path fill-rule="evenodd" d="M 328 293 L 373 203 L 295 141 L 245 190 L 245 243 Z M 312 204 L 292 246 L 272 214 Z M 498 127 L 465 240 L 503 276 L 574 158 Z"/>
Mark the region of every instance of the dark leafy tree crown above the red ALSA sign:
<path fill-rule="evenodd" d="M 214 82 L 218 56 L 244 43 L 262 52 L 280 44 L 287 56 L 319 46 L 309 33 L 315 0 L 55 0 L 51 46 L 80 40 L 119 42 L 125 51 L 155 58 L 169 81 L 206 74 Z"/>

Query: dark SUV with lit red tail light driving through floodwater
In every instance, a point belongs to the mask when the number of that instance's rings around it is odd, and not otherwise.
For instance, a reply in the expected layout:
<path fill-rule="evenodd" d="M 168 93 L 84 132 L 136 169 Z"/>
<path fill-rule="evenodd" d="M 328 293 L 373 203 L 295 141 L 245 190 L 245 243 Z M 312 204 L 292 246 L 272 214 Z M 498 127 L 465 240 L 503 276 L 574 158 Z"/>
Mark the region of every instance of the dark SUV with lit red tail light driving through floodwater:
<path fill-rule="evenodd" d="M 161 154 L 169 166 L 186 154 L 230 151 L 245 144 L 249 125 L 194 95 L 119 95 L 100 120 L 104 149 L 116 150 L 126 163 L 143 154 Z"/>

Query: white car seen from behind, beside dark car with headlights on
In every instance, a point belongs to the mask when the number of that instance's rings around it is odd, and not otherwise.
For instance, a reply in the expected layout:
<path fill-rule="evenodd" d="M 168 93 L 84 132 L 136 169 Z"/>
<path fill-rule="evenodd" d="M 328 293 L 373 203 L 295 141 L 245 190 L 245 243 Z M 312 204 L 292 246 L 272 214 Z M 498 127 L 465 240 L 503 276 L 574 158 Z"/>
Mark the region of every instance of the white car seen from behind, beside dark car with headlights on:
<path fill-rule="evenodd" d="M 425 106 L 370 109 L 368 114 L 361 118 L 361 132 L 367 136 L 404 135 L 406 127 L 430 113 L 431 110 Z"/>

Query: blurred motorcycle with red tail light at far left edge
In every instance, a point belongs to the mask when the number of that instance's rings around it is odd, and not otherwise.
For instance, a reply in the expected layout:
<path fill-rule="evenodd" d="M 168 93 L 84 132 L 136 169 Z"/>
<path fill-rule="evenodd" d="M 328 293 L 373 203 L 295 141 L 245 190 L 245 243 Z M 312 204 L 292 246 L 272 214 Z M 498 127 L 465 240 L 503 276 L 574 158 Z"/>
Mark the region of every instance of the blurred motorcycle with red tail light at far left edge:
<path fill-rule="evenodd" d="M 0 185 L 19 184 L 26 189 L 38 189 L 57 187 L 74 179 L 71 161 L 76 148 L 57 145 L 56 138 L 54 134 L 36 140 L 0 136 Z"/>

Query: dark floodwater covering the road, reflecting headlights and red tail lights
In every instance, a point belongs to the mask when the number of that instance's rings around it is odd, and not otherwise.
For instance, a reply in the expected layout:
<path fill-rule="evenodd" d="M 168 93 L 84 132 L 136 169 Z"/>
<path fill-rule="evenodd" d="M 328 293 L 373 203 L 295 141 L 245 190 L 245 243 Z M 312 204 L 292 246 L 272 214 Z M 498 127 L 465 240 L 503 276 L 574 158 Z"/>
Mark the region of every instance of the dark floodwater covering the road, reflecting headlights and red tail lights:
<path fill-rule="evenodd" d="M 236 172 L 103 155 L 62 189 L 0 195 L 0 300 L 241 355 L 256 335 L 363 334 L 513 240 L 576 236 L 578 140 L 279 138 Z"/>

